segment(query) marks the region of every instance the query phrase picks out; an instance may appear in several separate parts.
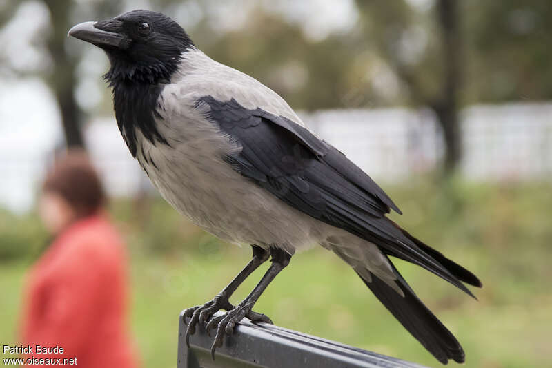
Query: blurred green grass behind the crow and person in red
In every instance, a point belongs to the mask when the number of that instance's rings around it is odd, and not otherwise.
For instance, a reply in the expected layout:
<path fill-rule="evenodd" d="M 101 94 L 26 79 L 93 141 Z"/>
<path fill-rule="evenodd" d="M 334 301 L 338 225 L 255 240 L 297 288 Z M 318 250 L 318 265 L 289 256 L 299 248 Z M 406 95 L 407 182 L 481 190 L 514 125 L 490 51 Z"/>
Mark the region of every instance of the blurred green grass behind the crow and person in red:
<path fill-rule="evenodd" d="M 405 213 L 393 215 L 394 220 L 484 283 L 483 289 L 473 289 L 475 301 L 430 273 L 397 262 L 420 298 L 462 343 L 466 367 L 552 366 L 550 189 L 549 184 L 461 182 L 437 189 L 415 182 L 411 188 L 388 190 Z M 112 213 L 132 255 L 131 326 L 144 366 L 175 367 L 179 312 L 220 291 L 248 262 L 250 249 L 222 244 L 184 224 L 161 201 L 117 202 Z M 0 265 L 2 343 L 15 339 L 26 264 Z M 246 280 L 234 302 L 247 295 L 266 267 Z M 255 310 L 283 327 L 440 366 L 357 275 L 322 248 L 295 255 Z"/>

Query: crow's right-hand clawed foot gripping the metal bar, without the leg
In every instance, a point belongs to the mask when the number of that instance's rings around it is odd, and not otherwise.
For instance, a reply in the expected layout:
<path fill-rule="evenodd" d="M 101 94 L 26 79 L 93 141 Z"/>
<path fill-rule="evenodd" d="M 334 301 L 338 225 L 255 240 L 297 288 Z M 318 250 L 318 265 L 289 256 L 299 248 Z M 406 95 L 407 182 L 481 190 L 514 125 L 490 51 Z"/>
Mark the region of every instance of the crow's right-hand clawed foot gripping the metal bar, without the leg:
<path fill-rule="evenodd" d="M 256 313 L 251 310 L 251 308 L 253 308 L 253 304 L 255 303 L 246 302 L 244 300 L 244 302 L 239 303 L 237 307 L 230 309 L 222 316 L 217 316 L 209 320 L 207 326 L 205 327 L 207 333 L 209 333 L 210 329 L 217 326 L 217 335 L 215 336 L 213 345 L 211 345 L 211 356 L 213 356 L 213 359 L 215 359 L 215 349 L 222 346 L 224 333 L 226 332 L 228 336 L 232 335 L 234 332 L 234 326 L 239 321 L 244 319 L 244 317 L 249 318 L 251 322 L 266 322 L 272 324 L 272 320 L 270 320 L 270 318 L 262 313 Z"/>

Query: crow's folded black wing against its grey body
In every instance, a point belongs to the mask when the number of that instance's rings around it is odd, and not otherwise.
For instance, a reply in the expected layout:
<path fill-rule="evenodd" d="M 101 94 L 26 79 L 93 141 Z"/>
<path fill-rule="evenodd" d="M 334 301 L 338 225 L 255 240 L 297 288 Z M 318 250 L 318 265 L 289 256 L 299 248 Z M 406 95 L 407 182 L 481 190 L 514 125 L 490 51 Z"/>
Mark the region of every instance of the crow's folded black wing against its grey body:
<path fill-rule="evenodd" d="M 364 171 L 330 144 L 285 117 L 206 96 L 208 119 L 242 146 L 225 157 L 242 175 L 318 220 L 418 264 L 473 296 L 460 280 L 385 217 L 400 210 Z M 462 277 L 460 277 L 462 278 Z M 465 279 L 465 278 L 464 278 Z"/>

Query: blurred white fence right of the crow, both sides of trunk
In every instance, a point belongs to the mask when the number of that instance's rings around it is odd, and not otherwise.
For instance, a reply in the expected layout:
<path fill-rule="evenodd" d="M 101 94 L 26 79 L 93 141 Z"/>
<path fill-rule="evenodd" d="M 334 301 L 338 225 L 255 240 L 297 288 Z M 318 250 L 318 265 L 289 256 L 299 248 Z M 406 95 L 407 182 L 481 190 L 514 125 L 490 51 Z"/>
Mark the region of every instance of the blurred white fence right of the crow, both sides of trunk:
<path fill-rule="evenodd" d="M 431 171 L 442 159 L 440 127 L 429 110 L 335 110 L 305 120 L 382 180 Z M 552 104 L 471 106 L 462 112 L 460 131 L 460 170 L 469 179 L 552 178 Z"/>

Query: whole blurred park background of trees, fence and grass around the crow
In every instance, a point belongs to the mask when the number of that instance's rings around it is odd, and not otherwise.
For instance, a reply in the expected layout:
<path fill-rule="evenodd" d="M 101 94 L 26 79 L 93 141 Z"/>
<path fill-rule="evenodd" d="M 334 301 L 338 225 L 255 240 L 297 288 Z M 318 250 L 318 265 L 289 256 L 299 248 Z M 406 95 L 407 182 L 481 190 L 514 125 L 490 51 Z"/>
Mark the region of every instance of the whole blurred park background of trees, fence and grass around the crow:
<path fill-rule="evenodd" d="M 466 366 L 552 366 L 548 0 L 0 0 L 1 343 L 16 342 L 21 284 L 48 240 L 36 194 L 66 146 L 94 159 L 128 242 L 146 367 L 175 367 L 179 311 L 250 258 L 160 199 L 117 130 L 107 58 L 66 37 L 135 8 L 169 14 L 207 55 L 284 96 L 382 184 L 404 212 L 393 220 L 480 277 L 477 302 L 397 261 Z M 437 366 L 335 256 L 291 264 L 256 307 L 277 325 Z"/>

